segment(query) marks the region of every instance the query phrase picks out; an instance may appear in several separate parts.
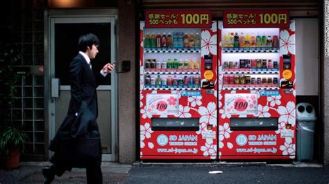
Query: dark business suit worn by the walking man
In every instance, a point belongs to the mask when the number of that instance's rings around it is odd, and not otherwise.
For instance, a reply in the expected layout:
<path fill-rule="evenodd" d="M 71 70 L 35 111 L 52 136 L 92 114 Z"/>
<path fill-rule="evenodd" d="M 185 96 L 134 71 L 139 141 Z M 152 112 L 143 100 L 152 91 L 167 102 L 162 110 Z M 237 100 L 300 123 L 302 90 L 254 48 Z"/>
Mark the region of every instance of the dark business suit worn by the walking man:
<path fill-rule="evenodd" d="M 101 142 L 99 142 L 99 156 L 93 162 L 63 162 L 59 156 L 56 156 L 56 149 L 58 148 L 58 136 L 62 131 L 69 131 L 72 137 L 81 137 L 87 135 L 91 131 L 99 131 L 96 118 L 98 116 L 97 109 L 97 95 L 96 87 L 99 86 L 101 80 L 105 79 L 101 73 L 97 73 L 95 76 L 92 72 L 90 65 L 83 55 L 78 54 L 74 59 L 72 59 L 69 66 L 69 81 L 71 85 L 71 100 L 69 102 L 69 110 L 65 120 L 58 129 L 58 133 L 55 138 L 51 141 L 49 149 L 55 151 L 54 156 L 51 158 L 51 163 L 53 163 L 53 169 L 58 176 L 62 175 L 65 170 L 71 170 L 72 167 L 85 167 L 87 172 L 87 183 L 102 183 L 101 174 Z M 84 103 L 83 103 L 84 102 Z M 81 104 L 84 104 L 81 106 Z M 81 107 L 87 107 L 83 109 Z M 80 111 L 88 111 L 87 117 L 84 117 L 83 123 L 87 125 L 81 126 L 80 120 L 76 122 L 76 118 L 81 118 L 76 116 L 76 113 Z M 86 114 L 86 113 L 84 113 Z M 86 120 L 87 118 L 87 120 Z M 83 127 L 85 131 L 78 130 Z"/>

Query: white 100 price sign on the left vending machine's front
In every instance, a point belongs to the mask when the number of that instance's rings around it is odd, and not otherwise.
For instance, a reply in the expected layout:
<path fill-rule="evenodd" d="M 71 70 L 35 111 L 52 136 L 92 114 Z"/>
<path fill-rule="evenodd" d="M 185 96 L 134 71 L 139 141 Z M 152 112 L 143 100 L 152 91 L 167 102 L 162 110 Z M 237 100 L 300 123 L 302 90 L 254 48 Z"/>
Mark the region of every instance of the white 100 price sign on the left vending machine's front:
<path fill-rule="evenodd" d="M 177 94 L 147 94 L 146 111 L 155 115 L 177 115 L 178 98 Z"/>

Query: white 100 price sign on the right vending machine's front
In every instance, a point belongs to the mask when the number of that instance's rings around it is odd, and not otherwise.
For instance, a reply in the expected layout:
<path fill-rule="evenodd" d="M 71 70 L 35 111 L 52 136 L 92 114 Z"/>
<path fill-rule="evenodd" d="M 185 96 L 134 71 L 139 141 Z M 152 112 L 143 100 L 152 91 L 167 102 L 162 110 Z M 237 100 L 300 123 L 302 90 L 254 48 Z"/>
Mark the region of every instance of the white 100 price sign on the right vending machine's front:
<path fill-rule="evenodd" d="M 256 114 L 258 98 L 256 94 L 225 94 L 225 111 L 230 114 Z"/>

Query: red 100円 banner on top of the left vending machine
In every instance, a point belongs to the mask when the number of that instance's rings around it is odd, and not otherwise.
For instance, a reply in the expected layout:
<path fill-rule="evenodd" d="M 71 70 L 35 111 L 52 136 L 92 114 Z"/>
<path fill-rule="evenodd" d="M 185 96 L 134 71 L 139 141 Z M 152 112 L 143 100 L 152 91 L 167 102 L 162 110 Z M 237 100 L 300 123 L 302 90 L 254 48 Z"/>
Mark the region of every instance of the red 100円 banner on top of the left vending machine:
<path fill-rule="evenodd" d="M 150 10 L 145 28 L 211 28 L 210 10 Z"/>

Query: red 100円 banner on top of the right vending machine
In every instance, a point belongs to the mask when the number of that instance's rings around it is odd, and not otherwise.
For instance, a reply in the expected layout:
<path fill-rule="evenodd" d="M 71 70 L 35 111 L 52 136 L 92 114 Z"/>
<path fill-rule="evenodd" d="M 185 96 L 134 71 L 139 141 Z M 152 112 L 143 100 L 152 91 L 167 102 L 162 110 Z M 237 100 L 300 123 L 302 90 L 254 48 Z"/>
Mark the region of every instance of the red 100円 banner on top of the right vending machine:
<path fill-rule="evenodd" d="M 227 10 L 223 28 L 289 28 L 289 10 Z"/>

